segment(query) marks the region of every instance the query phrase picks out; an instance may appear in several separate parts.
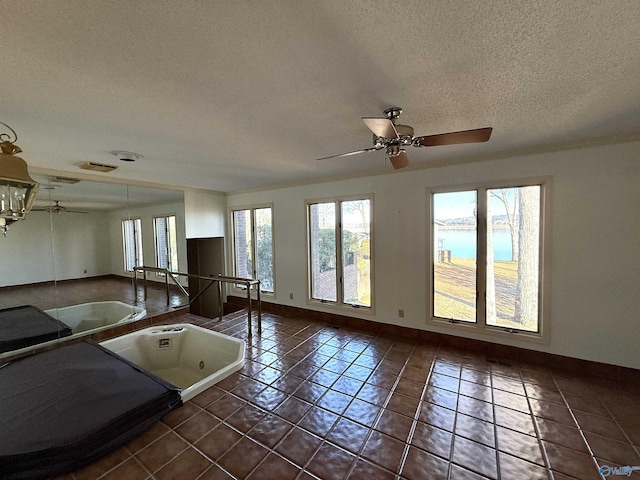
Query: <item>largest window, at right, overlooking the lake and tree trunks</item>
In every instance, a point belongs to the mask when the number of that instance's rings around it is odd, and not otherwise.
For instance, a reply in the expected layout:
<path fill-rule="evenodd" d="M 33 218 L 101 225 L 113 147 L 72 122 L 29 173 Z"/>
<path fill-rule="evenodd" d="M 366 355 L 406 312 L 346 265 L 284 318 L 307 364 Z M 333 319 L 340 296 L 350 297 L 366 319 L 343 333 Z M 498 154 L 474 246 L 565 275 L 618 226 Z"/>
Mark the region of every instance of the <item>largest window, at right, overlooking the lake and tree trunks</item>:
<path fill-rule="evenodd" d="M 541 332 L 544 183 L 431 192 L 435 319 Z"/>

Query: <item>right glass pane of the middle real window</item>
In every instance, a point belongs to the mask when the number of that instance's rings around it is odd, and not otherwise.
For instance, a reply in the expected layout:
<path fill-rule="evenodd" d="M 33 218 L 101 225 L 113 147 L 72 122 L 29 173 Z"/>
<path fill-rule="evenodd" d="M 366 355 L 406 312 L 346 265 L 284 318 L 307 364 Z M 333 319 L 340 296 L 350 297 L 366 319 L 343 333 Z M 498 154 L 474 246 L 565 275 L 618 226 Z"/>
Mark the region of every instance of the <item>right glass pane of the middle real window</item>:
<path fill-rule="evenodd" d="M 342 202 L 341 213 L 343 302 L 370 307 L 369 200 Z"/>

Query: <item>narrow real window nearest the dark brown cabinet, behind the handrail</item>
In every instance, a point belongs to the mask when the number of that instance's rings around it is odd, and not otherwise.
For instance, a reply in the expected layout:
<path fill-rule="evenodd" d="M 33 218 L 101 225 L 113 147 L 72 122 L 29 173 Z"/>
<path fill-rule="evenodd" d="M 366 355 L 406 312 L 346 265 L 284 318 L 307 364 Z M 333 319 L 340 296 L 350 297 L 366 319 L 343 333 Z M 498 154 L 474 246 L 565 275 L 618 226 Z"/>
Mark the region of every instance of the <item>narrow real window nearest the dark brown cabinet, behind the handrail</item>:
<path fill-rule="evenodd" d="M 262 292 L 274 292 L 271 207 L 232 211 L 235 275 L 260 280 Z"/>

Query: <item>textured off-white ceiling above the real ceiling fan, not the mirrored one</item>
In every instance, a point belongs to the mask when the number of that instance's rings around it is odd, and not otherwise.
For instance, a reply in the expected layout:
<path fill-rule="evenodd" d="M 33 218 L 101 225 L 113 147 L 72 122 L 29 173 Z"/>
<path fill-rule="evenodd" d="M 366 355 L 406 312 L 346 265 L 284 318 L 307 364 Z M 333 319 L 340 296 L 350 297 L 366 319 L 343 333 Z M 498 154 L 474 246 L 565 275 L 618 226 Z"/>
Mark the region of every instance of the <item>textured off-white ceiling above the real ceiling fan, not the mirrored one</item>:
<path fill-rule="evenodd" d="M 390 106 L 416 135 L 494 128 L 409 168 L 640 136 L 637 0 L 3 0 L 0 18 L 0 121 L 36 171 L 224 192 L 393 174 L 382 151 L 315 160 L 371 146 L 360 117 Z"/>

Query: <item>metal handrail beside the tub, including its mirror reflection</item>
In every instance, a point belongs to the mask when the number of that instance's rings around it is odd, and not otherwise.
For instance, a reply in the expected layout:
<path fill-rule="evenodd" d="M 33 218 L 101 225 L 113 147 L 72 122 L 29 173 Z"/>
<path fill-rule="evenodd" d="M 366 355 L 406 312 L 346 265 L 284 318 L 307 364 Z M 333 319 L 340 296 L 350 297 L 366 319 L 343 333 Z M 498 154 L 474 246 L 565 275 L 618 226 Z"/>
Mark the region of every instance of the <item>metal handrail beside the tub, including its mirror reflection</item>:
<path fill-rule="evenodd" d="M 160 267 L 134 267 L 133 269 L 133 289 L 134 289 L 134 297 L 137 299 L 138 292 L 138 272 L 143 273 L 144 279 L 144 299 L 147 299 L 147 272 L 155 272 L 164 274 L 164 283 L 165 289 L 167 292 L 167 306 L 170 305 L 169 300 L 169 278 L 173 280 L 173 282 L 180 288 L 182 293 L 184 293 L 189 298 L 189 305 L 191 305 L 194 300 L 196 300 L 200 295 L 202 295 L 205 291 L 207 291 L 212 285 L 216 284 L 218 286 L 218 321 L 222 320 L 224 316 L 224 310 L 222 305 L 222 284 L 223 283 L 241 283 L 244 284 L 247 289 L 247 324 L 248 324 L 248 334 L 251 335 L 251 290 L 255 287 L 256 290 L 256 303 L 258 307 L 258 334 L 262 333 L 262 301 L 260 299 L 260 280 L 254 278 L 242 278 L 242 277 L 229 277 L 226 275 L 218 274 L 216 276 L 202 276 L 195 275 L 193 273 L 184 273 L 184 272 L 172 272 L 167 270 L 166 268 Z M 209 280 L 209 284 L 204 287 L 202 290 L 198 292 L 193 298 L 189 295 L 189 292 L 185 290 L 185 288 L 178 281 L 178 277 L 187 277 L 187 278 L 198 278 L 200 280 Z"/>

